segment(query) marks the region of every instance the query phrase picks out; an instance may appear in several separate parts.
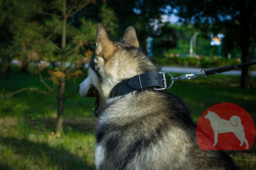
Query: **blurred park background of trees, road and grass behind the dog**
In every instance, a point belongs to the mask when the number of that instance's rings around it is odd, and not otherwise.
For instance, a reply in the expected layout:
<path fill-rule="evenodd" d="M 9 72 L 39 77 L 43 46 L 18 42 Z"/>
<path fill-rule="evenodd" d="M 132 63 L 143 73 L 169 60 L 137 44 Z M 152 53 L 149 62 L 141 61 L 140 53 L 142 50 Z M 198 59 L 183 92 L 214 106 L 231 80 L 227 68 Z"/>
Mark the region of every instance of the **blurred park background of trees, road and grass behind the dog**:
<path fill-rule="evenodd" d="M 179 76 L 255 61 L 255 6 L 253 0 L 0 0 L 0 169 L 95 168 L 95 99 L 82 99 L 77 87 L 87 77 L 99 22 L 112 40 L 133 26 L 156 66 Z M 195 122 L 222 102 L 240 105 L 255 122 L 255 71 L 177 81 L 168 92 L 186 103 Z M 256 168 L 255 151 L 254 144 L 229 153 L 239 167 Z"/>

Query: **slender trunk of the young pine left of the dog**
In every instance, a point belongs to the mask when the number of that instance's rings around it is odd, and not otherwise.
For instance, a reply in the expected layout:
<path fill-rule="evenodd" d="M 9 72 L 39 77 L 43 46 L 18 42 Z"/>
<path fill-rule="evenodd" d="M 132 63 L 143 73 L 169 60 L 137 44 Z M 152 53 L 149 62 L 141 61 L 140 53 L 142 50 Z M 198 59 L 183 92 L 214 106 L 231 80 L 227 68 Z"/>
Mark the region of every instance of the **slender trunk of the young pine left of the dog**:
<path fill-rule="evenodd" d="M 61 70 L 66 68 L 66 30 L 67 30 L 67 15 L 66 15 L 66 0 L 63 0 L 63 20 L 62 20 L 62 36 L 61 36 Z M 64 115 L 64 101 L 65 101 L 65 74 L 59 78 L 59 98 L 58 98 L 58 113 L 56 132 L 61 133 L 63 130 L 63 115 Z"/>

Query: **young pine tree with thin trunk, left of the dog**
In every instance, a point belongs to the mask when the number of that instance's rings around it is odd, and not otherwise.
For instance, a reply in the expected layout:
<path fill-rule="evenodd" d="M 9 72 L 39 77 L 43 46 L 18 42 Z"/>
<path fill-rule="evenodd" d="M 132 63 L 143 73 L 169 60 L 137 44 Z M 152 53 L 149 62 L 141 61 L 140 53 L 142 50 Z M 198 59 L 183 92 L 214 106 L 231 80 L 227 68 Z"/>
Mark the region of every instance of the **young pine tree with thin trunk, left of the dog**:
<path fill-rule="evenodd" d="M 96 2 L 94 0 L 49 2 L 21 0 L 8 1 L 8 3 L 11 6 L 6 8 L 14 11 L 13 22 L 9 25 L 13 39 L 9 53 L 32 62 L 29 64 L 29 69 L 38 72 L 40 81 L 48 89 L 43 91 L 25 88 L 21 91 L 36 90 L 57 98 L 56 131 L 62 132 L 65 99 L 78 91 L 67 95 L 66 82 L 82 74 L 80 68 L 93 53 L 91 44 L 95 43 L 97 29 L 97 22 L 76 15 L 83 13 L 84 7 L 89 4 L 95 5 Z M 111 13 L 109 16 L 102 14 L 101 19 L 105 25 L 116 19 L 111 9 L 102 7 L 102 10 Z M 47 63 L 51 65 L 48 68 L 50 74 L 48 79 L 53 82 L 54 87 L 50 86 L 41 75 Z M 55 87 L 58 89 L 55 90 Z"/>

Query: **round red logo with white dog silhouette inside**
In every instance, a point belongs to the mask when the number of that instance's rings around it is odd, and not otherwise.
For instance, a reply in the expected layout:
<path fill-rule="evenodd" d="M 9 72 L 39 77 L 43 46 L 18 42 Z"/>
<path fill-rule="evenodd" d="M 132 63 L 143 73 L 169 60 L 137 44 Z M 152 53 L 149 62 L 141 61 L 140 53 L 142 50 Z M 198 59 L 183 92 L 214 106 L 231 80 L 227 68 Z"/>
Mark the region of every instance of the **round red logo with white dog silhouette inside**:
<path fill-rule="evenodd" d="M 254 138 L 250 114 L 236 104 L 211 106 L 198 120 L 197 141 L 202 150 L 250 150 Z"/>

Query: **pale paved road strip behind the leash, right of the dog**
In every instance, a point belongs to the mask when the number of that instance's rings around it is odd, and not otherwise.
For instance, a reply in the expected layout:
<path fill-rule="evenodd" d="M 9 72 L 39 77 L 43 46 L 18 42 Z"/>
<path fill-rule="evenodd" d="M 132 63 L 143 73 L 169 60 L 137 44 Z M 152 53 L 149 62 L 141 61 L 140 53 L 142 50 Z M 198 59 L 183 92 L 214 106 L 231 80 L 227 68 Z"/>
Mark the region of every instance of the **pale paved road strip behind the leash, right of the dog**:
<path fill-rule="evenodd" d="M 199 73 L 203 68 L 182 68 L 182 67 L 160 67 L 161 71 L 176 72 L 176 73 Z M 241 69 L 222 72 L 222 75 L 241 75 Z M 256 71 L 251 71 L 251 76 L 256 77 Z"/>

